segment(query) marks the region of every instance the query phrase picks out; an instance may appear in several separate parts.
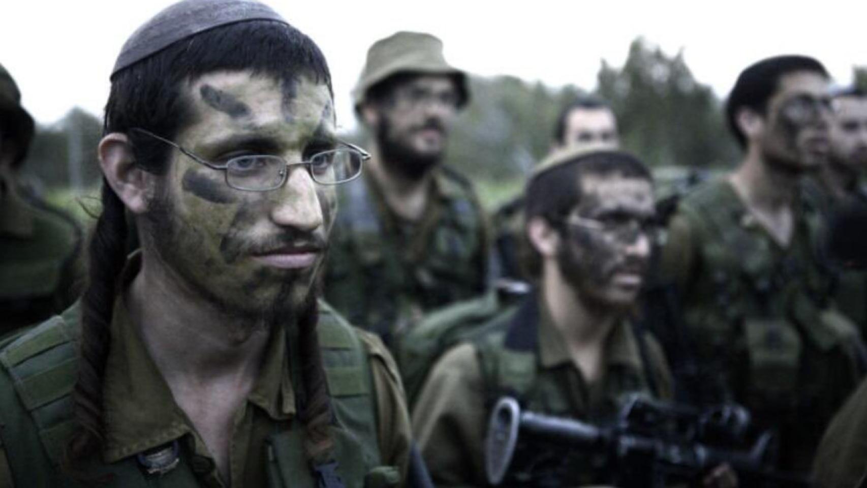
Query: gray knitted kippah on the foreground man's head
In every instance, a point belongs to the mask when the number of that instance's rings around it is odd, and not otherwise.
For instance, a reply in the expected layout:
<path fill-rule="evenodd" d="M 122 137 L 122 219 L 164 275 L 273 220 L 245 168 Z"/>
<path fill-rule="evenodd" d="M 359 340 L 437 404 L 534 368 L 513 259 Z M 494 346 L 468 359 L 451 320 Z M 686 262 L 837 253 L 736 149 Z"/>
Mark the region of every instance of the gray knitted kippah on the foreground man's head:
<path fill-rule="evenodd" d="M 263 3 L 251 0 L 183 0 L 153 16 L 129 36 L 114 62 L 112 76 L 175 42 L 221 25 L 283 17 Z"/>

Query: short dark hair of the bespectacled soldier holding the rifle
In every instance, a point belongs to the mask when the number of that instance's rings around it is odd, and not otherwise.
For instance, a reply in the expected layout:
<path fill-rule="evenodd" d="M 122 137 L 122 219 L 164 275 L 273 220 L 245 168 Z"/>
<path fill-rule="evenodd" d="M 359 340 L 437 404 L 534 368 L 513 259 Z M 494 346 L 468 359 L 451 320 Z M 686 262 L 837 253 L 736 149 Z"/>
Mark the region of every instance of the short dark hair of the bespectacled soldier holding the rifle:
<path fill-rule="evenodd" d="M 629 153 L 599 151 L 576 156 L 530 179 L 524 192 L 525 224 L 531 218 L 544 218 L 562 231 L 565 218 L 581 202 L 581 185 L 588 175 L 653 181 L 647 166 Z M 521 243 L 521 266 L 528 277 L 536 279 L 542 271 L 542 259 L 526 232 L 522 234 Z"/>

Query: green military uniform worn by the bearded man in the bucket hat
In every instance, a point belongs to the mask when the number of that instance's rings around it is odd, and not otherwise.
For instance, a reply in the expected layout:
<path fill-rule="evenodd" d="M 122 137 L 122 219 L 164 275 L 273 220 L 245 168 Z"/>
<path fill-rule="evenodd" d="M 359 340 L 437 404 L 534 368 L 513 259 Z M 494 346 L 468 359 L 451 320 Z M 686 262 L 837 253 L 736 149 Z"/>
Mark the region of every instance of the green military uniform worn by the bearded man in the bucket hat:
<path fill-rule="evenodd" d="M 472 186 L 447 168 L 435 170 L 418 222 L 396 215 L 364 176 L 337 188 L 325 296 L 391 343 L 427 310 L 485 290 L 485 219 Z"/>

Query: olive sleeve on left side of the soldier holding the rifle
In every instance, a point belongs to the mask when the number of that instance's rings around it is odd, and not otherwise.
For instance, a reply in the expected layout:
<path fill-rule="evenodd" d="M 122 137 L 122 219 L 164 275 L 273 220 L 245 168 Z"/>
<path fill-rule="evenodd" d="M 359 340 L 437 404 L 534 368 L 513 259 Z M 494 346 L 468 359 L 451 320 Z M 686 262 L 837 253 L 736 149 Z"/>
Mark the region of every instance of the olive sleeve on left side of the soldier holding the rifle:
<path fill-rule="evenodd" d="M 476 349 L 460 344 L 433 367 L 413 410 L 413 432 L 437 486 L 487 485 L 487 426 Z"/>

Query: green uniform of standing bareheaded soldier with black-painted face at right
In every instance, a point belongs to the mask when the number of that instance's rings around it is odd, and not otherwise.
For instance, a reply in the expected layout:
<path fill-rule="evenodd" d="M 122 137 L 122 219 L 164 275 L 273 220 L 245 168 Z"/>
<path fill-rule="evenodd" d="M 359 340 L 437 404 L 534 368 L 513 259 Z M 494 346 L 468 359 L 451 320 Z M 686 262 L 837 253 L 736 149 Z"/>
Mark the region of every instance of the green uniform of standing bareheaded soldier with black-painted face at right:
<path fill-rule="evenodd" d="M 780 467 L 804 471 L 832 413 L 857 385 L 857 330 L 829 296 L 816 253 L 818 211 L 795 209 L 783 248 L 726 179 L 683 198 L 662 270 L 681 294 L 683 332 L 698 365 L 693 400 L 737 401 L 781 436 Z"/>

